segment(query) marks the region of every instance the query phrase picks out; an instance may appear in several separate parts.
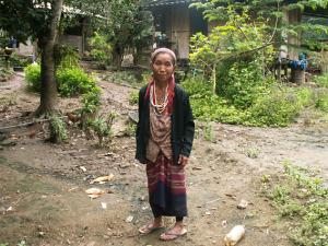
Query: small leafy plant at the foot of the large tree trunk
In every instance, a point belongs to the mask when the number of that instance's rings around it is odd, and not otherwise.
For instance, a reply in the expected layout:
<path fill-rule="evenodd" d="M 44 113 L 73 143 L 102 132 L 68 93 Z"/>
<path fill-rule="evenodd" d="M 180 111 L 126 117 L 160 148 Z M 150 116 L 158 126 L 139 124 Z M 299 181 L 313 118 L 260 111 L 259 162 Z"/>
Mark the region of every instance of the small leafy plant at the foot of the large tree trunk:
<path fill-rule="evenodd" d="M 50 141 L 61 143 L 68 139 L 68 132 L 66 122 L 62 120 L 62 116 L 50 115 Z"/>

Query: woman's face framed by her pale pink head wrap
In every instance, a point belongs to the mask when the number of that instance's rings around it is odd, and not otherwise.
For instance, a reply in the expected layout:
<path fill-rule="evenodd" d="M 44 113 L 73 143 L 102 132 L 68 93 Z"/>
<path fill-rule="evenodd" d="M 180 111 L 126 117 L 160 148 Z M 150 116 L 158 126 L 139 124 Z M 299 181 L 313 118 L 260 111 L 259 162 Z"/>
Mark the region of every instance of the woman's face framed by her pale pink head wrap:
<path fill-rule="evenodd" d="M 175 67 L 171 55 L 166 52 L 160 52 L 152 63 L 155 81 L 167 82 L 174 72 L 174 68 Z"/>

